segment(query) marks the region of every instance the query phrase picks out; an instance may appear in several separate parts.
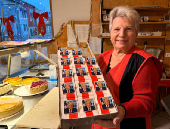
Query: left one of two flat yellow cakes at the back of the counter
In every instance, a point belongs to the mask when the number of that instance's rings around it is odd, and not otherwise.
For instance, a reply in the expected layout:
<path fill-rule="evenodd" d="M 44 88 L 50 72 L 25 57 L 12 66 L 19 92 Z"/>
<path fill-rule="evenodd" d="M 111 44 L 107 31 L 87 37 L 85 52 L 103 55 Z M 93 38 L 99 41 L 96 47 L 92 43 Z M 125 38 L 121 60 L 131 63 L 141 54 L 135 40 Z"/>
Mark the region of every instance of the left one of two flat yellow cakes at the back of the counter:
<path fill-rule="evenodd" d="M 3 82 L 8 82 L 11 84 L 11 86 L 20 85 L 22 82 L 22 78 L 20 77 L 6 78 L 3 80 Z"/>

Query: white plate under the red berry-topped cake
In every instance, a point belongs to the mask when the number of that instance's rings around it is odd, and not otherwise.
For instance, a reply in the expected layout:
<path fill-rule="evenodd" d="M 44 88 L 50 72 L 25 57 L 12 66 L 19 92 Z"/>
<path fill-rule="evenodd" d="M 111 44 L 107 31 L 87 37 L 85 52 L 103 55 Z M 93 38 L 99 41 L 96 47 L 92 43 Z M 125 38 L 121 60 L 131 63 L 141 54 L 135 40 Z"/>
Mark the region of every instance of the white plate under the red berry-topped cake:
<path fill-rule="evenodd" d="M 44 90 L 40 93 L 36 93 L 36 94 L 30 94 L 29 91 L 27 89 L 30 89 L 30 86 L 31 85 L 26 85 L 26 86 L 22 86 L 20 88 L 17 88 L 15 91 L 14 91 L 14 94 L 15 95 L 18 95 L 18 96 L 33 96 L 33 95 L 38 95 L 38 94 L 41 94 L 41 93 L 44 93 L 45 91 L 47 90 Z"/>

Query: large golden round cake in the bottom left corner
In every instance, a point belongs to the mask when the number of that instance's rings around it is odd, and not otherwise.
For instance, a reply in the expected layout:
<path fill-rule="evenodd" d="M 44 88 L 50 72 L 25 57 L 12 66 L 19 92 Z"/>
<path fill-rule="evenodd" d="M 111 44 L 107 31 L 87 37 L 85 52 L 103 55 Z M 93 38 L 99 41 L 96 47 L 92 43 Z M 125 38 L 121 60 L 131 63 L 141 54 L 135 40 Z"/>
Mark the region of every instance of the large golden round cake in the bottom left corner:
<path fill-rule="evenodd" d="M 0 98 L 0 119 L 11 116 L 23 109 L 21 97 L 1 97 Z"/>

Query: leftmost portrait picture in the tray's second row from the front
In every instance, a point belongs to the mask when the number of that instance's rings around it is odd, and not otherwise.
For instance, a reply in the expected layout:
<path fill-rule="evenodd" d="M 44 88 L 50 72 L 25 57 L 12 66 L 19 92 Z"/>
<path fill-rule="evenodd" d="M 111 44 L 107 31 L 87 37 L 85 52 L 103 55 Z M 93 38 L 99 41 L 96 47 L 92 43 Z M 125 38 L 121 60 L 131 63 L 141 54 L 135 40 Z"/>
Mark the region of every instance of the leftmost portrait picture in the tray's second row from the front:
<path fill-rule="evenodd" d="M 63 90 L 63 94 L 74 93 L 73 83 L 70 82 L 70 83 L 62 84 L 62 90 Z"/>

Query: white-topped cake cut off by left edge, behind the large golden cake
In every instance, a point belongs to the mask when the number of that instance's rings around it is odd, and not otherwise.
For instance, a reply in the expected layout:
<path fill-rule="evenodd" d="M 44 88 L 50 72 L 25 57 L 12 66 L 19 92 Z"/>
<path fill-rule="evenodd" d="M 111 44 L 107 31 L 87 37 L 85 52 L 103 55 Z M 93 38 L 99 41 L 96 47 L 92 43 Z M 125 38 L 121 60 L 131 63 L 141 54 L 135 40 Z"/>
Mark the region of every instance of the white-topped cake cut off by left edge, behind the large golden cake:
<path fill-rule="evenodd" d="M 4 82 L 0 84 L 0 95 L 7 93 L 11 90 L 11 84 Z"/>

